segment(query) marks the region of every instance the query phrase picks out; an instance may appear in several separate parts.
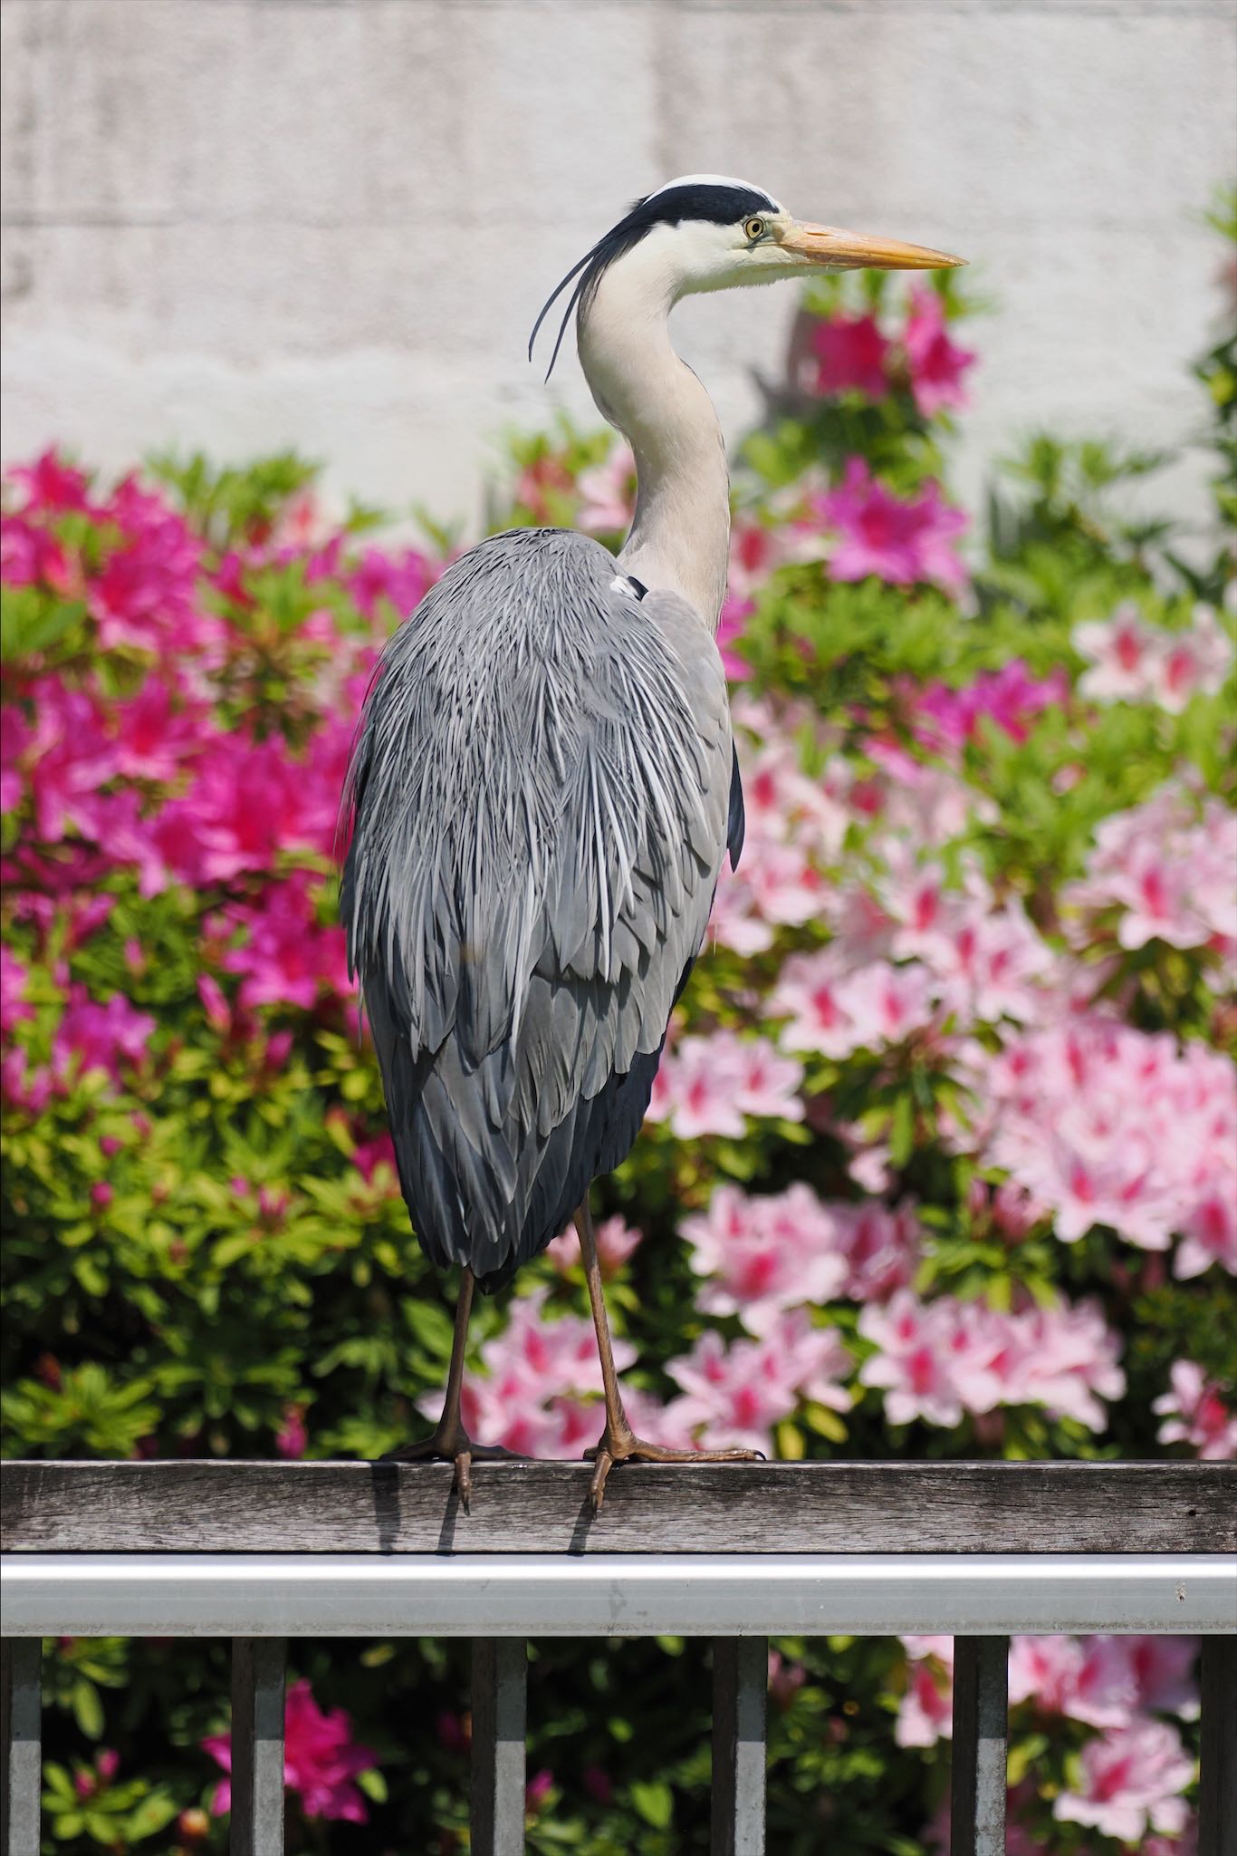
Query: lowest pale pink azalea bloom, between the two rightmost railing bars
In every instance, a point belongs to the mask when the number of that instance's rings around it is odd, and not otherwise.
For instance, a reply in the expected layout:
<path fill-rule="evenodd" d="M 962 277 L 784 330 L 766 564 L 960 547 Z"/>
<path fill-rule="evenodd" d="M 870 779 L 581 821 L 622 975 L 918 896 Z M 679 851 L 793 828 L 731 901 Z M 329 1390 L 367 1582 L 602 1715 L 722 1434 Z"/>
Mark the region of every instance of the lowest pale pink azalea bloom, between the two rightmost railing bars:
<path fill-rule="evenodd" d="M 1165 1721 L 1139 1721 L 1089 1741 L 1081 1754 L 1078 1791 L 1063 1791 L 1053 1817 L 1090 1824 L 1103 1836 L 1137 1843 L 1150 1830 L 1181 1830 L 1187 1821 L 1181 1791 L 1194 1776 L 1194 1761 L 1176 1728 Z"/>

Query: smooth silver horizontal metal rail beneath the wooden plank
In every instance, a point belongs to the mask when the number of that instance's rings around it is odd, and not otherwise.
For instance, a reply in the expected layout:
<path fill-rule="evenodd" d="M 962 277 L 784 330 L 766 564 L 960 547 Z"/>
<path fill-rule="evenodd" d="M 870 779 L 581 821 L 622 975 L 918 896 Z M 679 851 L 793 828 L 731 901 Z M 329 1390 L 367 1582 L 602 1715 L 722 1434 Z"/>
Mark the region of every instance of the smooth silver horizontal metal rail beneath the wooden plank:
<path fill-rule="evenodd" d="M 15 1637 L 1237 1628 L 1222 1553 L 13 1553 L 0 1592 Z"/>

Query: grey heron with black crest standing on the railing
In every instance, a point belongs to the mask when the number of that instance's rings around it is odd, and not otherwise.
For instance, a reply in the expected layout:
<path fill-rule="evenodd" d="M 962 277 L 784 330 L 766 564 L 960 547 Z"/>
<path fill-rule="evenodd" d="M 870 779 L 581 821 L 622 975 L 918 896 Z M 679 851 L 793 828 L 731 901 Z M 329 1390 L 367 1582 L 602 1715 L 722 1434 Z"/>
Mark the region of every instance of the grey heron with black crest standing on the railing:
<path fill-rule="evenodd" d="M 629 1153 L 705 939 L 744 798 L 721 659 L 729 479 L 708 393 L 668 317 L 690 291 L 814 269 L 938 269 L 946 252 L 794 219 L 762 187 L 688 174 L 638 200 L 558 284 L 580 364 L 636 457 L 627 542 L 491 535 L 388 642 L 349 770 L 349 965 L 382 1069 L 399 1179 L 440 1268 L 462 1266 L 443 1414 L 402 1459 L 454 1463 L 473 1286 L 575 1218 L 612 1464 L 723 1461 L 638 1438 L 623 1412 L 588 1210 Z"/>

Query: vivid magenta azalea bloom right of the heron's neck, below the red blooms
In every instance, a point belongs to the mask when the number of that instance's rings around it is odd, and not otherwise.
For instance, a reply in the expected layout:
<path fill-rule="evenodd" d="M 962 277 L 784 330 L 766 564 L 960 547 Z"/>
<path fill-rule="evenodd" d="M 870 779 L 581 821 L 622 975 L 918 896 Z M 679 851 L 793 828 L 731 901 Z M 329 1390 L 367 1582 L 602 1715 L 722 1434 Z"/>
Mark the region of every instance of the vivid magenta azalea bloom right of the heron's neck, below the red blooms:
<path fill-rule="evenodd" d="M 864 458 L 851 458 L 838 488 L 818 497 L 816 510 L 840 536 L 829 557 L 831 579 L 874 574 L 890 586 L 937 581 L 946 592 L 961 592 L 966 585 L 955 546 L 966 516 L 946 507 L 937 483 L 901 499 L 872 477 Z"/>

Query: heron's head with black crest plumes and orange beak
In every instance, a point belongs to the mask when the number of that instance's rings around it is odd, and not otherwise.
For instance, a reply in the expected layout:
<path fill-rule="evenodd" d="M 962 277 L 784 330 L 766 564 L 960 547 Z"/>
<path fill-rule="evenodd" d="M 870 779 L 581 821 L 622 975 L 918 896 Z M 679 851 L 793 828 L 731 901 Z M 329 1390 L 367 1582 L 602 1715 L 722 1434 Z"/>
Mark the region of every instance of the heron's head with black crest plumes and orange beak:
<path fill-rule="evenodd" d="M 964 262 L 927 245 L 794 219 L 772 193 L 746 180 L 682 174 L 636 200 L 567 271 L 536 319 L 529 356 L 551 304 L 575 284 L 555 342 L 553 371 L 571 312 L 579 306 L 586 316 L 603 277 L 618 265 L 638 271 L 649 301 L 670 310 L 692 291 L 772 284 L 807 271 L 942 271 Z"/>

